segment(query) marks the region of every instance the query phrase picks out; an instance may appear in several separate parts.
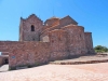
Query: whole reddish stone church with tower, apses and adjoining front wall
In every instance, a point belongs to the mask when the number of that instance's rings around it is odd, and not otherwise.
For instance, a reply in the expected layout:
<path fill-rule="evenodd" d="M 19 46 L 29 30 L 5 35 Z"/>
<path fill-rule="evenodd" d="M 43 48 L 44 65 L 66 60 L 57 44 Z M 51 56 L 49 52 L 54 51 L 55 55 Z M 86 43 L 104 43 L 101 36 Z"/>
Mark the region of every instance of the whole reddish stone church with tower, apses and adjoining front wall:
<path fill-rule="evenodd" d="M 43 23 L 35 14 L 21 17 L 19 41 L 0 41 L 0 51 L 9 53 L 10 68 L 94 53 L 92 32 L 69 15 Z"/>

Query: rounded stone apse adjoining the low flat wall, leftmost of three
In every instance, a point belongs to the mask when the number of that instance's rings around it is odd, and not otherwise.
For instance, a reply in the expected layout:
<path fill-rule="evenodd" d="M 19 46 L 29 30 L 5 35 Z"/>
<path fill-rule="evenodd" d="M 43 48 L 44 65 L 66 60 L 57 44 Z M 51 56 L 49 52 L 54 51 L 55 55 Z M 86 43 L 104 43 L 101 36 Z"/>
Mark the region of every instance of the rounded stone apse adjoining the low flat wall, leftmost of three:
<path fill-rule="evenodd" d="M 64 59 L 68 57 L 67 52 L 67 32 L 62 29 L 55 29 L 49 32 L 51 60 Z"/>

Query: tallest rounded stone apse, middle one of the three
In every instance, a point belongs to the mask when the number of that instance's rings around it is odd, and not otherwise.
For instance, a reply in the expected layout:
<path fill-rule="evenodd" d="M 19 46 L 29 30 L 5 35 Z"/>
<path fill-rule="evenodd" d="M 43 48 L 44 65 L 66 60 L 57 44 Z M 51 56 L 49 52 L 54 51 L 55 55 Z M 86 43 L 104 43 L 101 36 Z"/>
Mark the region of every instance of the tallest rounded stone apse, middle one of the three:
<path fill-rule="evenodd" d="M 67 31 L 67 45 L 70 57 L 85 54 L 84 28 L 81 26 L 68 25 L 62 28 Z"/>

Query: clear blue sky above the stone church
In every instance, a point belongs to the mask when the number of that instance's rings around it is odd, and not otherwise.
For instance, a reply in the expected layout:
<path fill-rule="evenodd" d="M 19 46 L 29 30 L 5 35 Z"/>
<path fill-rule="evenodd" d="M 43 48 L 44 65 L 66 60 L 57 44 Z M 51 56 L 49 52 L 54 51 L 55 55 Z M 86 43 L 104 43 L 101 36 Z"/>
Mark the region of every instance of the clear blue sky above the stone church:
<path fill-rule="evenodd" d="M 70 15 L 92 32 L 94 46 L 108 46 L 108 0 L 0 0 L 0 40 L 17 41 L 21 16 L 32 13 L 42 21 Z"/>

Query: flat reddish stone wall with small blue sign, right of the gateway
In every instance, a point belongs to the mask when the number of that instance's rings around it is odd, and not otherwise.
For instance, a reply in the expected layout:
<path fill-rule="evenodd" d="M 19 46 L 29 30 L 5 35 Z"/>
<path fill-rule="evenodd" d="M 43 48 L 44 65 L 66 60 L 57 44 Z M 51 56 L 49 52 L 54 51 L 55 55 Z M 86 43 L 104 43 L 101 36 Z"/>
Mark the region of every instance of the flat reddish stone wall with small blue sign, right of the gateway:
<path fill-rule="evenodd" d="M 9 66 L 35 66 L 45 64 L 50 59 L 50 44 L 44 42 L 17 42 L 10 45 Z"/>

